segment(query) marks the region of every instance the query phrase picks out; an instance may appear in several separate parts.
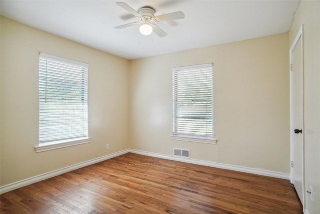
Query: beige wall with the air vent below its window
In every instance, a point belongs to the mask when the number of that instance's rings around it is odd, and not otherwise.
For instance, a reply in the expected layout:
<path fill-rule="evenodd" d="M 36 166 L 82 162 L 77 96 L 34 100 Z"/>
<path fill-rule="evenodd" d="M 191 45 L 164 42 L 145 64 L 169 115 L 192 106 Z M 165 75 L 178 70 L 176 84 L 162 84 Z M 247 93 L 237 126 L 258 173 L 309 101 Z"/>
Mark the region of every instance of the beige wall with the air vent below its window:
<path fill-rule="evenodd" d="M 289 173 L 288 34 L 130 61 L 131 148 Z M 172 67 L 213 63 L 216 145 L 170 140 Z"/>

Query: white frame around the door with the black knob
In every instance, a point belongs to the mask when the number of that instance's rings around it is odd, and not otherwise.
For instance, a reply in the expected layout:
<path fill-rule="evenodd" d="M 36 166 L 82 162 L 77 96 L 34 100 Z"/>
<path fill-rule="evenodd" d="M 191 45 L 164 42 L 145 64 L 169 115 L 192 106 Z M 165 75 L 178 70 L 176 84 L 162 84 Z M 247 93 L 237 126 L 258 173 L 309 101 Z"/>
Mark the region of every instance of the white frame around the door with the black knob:
<path fill-rule="evenodd" d="M 290 182 L 293 183 L 292 179 L 292 157 L 293 157 L 293 135 L 294 131 L 293 129 L 296 127 L 292 126 L 292 71 L 291 71 L 291 65 L 292 65 L 292 54 L 294 51 L 294 48 L 296 47 L 299 39 L 301 40 L 301 93 L 302 93 L 302 208 L 303 212 L 305 210 L 305 179 L 304 179 L 304 59 L 303 59 L 303 25 L 301 25 L 299 31 L 297 32 L 297 35 L 295 36 L 295 39 L 290 47 L 289 51 L 289 74 L 290 74 Z"/>

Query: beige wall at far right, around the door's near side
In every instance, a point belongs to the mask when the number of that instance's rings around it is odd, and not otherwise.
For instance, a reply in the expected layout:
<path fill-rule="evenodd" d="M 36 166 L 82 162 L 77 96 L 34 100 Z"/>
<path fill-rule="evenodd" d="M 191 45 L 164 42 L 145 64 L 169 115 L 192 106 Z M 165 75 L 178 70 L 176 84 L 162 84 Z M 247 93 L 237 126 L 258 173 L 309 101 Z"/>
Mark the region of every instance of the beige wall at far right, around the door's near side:
<path fill-rule="evenodd" d="M 305 208 L 320 213 L 320 1 L 301 1 L 289 31 L 289 44 L 303 24 Z"/>

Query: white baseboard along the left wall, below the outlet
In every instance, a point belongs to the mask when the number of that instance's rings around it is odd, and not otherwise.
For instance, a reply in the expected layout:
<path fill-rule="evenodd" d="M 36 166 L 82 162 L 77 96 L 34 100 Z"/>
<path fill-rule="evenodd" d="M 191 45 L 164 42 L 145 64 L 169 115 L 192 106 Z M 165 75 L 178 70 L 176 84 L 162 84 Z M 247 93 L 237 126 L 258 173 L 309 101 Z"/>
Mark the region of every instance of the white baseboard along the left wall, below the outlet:
<path fill-rule="evenodd" d="M 104 155 L 102 157 L 94 158 L 94 159 L 91 159 L 91 160 L 88 160 L 88 161 L 84 161 L 84 162 L 77 163 L 77 164 L 74 164 L 74 165 L 71 165 L 71 166 L 67 166 L 67 167 L 64 167 L 64 168 L 61 168 L 61 169 L 50 171 L 50 172 L 47 172 L 47 173 L 44 173 L 44 174 L 36 175 L 34 177 L 26 178 L 26 179 L 23 179 L 23 180 L 14 182 L 14 183 L 10 183 L 10 184 L 4 185 L 4 186 L 0 186 L 0 194 L 8 192 L 8 191 L 11 191 L 11 190 L 14 190 L 14 189 L 17 189 L 17 188 L 20 188 L 22 186 L 26 186 L 26 185 L 41 181 L 41 180 L 48 179 L 50 177 L 57 176 L 59 174 L 63 174 L 65 172 L 69 172 L 69 171 L 72 171 L 72 170 L 75 170 L 75 169 L 78 169 L 78 168 L 82 168 L 84 166 L 88 166 L 88 165 L 91 165 L 91 164 L 94 164 L 94 163 L 98 163 L 98 162 L 101 162 L 103 160 L 107 160 L 107 159 L 110 159 L 112 157 L 116 157 L 116 156 L 128 153 L 129 151 L 130 151 L 129 149 L 125 149 L 123 151 L 119 151 L 119 152 L 115 152 L 115 153 L 112 153 L 112 154 Z"/>

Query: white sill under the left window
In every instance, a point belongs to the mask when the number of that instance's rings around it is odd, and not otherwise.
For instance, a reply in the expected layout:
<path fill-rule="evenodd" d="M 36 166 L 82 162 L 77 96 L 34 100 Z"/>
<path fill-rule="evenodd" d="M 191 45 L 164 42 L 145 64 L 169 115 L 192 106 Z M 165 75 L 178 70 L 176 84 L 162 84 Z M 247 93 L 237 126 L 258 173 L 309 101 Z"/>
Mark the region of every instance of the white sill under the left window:
<path fill-rule="evenodd" d="M 60 141 L 54 141 L 49 143 L 40 143 L 38 146 L 35 146 L 34 148 L 35 148 L 35 152 L 41 152 L 41 151 L 48 151 L 52 149 L 63 148 L 67 146 L 74 146 L 74 145 L 89 143 L 90 140 L 91 138 L 89 137 L 60 140 Z"/>

